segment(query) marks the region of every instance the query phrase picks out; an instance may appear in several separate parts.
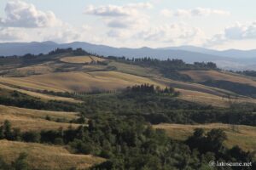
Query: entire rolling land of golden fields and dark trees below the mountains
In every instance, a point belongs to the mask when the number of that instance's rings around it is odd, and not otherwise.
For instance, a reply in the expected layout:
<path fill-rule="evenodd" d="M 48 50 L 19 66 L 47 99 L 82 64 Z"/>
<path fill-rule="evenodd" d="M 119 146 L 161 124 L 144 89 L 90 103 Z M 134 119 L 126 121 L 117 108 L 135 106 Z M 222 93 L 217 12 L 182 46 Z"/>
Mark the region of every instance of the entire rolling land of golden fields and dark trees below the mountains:
<path fill-rule="evenodd" d="M 7 165 L 21 152 L 28 167 L 57 170 L 179 169 L 175 162 L 188 160 L 203 168 L 208 153 L 253 160 L 256 98 L 244 90 L 256 88 L 253 77 L 212 62 L 106 58 L 80 48 L 0 61 L 0 161 Z M 184 143 L 197 127 L 206 129 L 203 150 L 200 138 Z"/>

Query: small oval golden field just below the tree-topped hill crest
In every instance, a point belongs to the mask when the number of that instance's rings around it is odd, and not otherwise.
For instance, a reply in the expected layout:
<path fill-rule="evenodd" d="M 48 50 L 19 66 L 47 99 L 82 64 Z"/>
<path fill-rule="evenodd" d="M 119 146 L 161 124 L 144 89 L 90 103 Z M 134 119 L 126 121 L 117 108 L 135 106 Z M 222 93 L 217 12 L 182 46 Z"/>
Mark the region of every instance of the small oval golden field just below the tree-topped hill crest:
<path fill-rule="evenodd" d="M 65 63 L 73 63 L 73 64 L 85 64 L 91 63 L 93 61 L 104 61 L 106 59 L 102 59 L 95 56 L 73 56 L 73 57 L 64 57 L 60 59 L 62 62 Z"/>

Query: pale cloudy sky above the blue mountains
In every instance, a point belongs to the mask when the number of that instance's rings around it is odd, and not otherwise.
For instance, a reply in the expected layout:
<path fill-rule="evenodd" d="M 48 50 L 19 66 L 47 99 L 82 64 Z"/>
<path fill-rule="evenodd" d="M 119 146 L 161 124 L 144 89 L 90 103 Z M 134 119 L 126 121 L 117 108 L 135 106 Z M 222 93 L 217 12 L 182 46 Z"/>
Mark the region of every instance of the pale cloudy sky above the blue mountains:
<path fill-rule="evenodd" d="M 0 42 L 256 48 L 255 0 L 1 0 Z"/>

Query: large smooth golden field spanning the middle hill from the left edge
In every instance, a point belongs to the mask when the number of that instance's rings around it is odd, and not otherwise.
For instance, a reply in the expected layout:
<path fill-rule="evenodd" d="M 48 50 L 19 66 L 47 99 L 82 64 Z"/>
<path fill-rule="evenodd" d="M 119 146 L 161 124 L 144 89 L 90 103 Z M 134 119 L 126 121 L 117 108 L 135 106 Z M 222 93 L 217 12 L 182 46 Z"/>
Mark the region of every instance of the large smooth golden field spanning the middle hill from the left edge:
<path fill-rule="evenodd" d="M 90 73 L 71 71 L 31 77 L 0 77 L 0 82 L 55 92 L 84 92 L 94 89 L 115 90 L 141 83 L 150 83 L 164 87 L 164 85 L 154 82 L 149 78 L 137 77 L 116 71 L 96 71 Z"/>

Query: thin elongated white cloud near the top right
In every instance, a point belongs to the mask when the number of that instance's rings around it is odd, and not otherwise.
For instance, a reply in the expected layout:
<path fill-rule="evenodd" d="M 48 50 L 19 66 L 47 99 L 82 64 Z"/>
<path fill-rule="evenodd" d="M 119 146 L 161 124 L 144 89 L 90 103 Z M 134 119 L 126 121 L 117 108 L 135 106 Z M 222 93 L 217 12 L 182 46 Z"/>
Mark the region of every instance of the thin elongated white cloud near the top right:
<path fill-rule="evenodd" d="M 185 16 L 208 16 L 208 15 L 230 15 L 229 11 L 212 9 L 212 8 L 193 8 L 193 9 L 177 9 L 175 11 L 163 9 L 160 14 L 166 17 L 185 17 Z"/>

